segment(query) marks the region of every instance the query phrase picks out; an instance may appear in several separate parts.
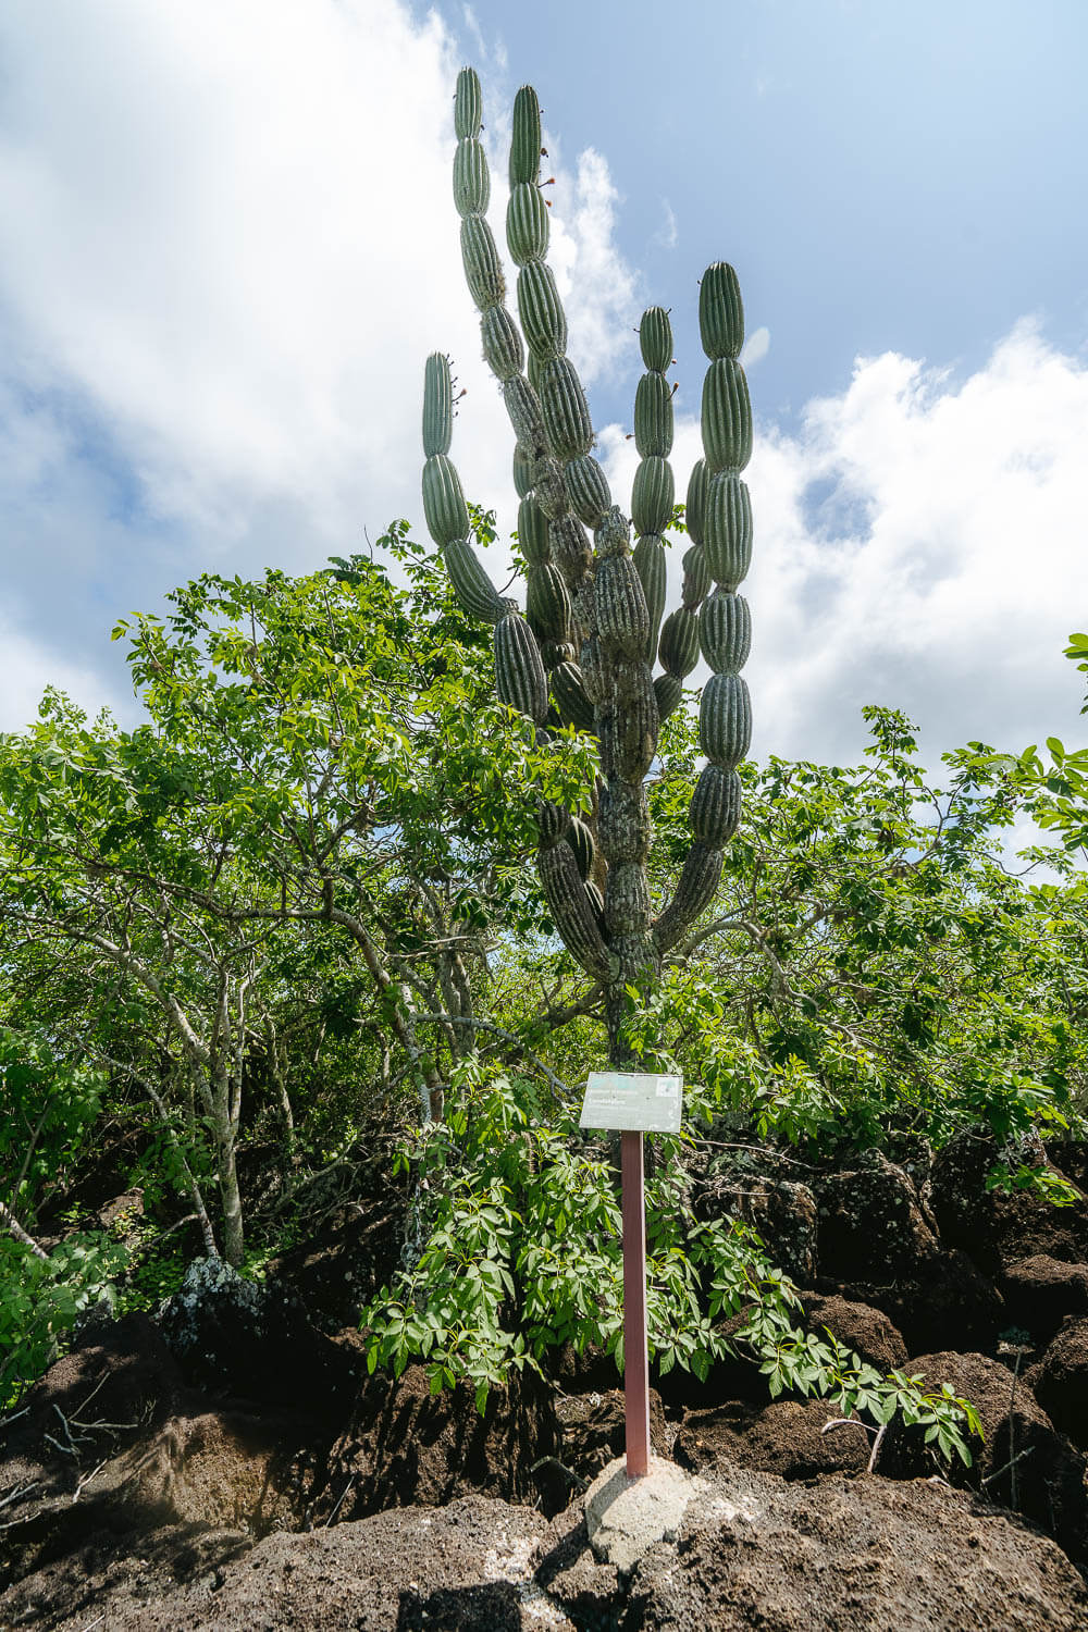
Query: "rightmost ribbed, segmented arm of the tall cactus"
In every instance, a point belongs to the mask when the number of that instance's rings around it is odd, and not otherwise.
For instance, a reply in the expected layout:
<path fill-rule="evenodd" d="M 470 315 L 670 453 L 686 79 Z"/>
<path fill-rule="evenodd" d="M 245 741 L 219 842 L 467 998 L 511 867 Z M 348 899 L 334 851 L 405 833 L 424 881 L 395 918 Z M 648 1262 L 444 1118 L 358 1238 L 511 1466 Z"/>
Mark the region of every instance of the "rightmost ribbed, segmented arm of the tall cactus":
<path fill-rule="evenodd" d="M 688 532 L 695 542 L 685 557 L 683 604 L 662 630 L 661 653 L 667 674 L 690 672 L 700 650 L 710 664 L 698 723 L 708 762 L 692 795 L 692 849 L 675 894 L 654 924 L 654 945 L 662 956 L 714 899 L 723 847 L 741 819 L 736 767 L 752 734 L 752 703 L 741 677 L 752 645 L 752 620 L 747 602 L 736 592 L 752 558 L 752 508 L 741 480 L 752 452 L 752 410 L 739 362 L 741 290 L 737 274 L 724 261 L 703 274 L 700 335 L 710 367 L 703 382 L 705 457 L 688 485 Z M 711 579 L 714 589 L 706 599 Z"/>

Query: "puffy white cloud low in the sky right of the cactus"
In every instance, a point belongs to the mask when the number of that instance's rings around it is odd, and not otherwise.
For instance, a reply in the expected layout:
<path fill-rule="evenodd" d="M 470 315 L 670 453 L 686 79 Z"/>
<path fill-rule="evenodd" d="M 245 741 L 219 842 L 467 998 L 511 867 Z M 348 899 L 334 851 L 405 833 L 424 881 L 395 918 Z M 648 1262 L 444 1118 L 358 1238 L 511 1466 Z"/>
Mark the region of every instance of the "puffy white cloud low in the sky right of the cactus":
<path fill-rule="evenodd" d="M 628 494 L 635 444 L 610 428 L 602 446 Z M 1033 323 L 962 384 L 889 353 L 809 403 L 796 436 L 763 428 L 747 472 L 754 751 L 856 759 L 863 703 L 915 718 L 931 764 L 971 739 L 1083 741 L 1062 648 L 1088 604 L 1085 447 L 1088 367 Z M 698 454 L 679 419 L 677 496 Z M 672 576 L 675 604 L 679 561 Z"/>

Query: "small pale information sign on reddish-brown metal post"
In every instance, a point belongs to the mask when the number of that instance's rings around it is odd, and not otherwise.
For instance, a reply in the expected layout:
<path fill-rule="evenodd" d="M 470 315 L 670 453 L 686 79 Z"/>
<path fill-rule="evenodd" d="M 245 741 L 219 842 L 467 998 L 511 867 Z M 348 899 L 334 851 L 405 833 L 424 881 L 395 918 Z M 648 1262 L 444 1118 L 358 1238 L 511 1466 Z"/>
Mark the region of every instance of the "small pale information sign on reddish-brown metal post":
<path fill-rule="evenodd" d="M 646 1183 L 643 1133 L 679 1133 L 680 1077 L 643 1072 L 592 1072 L 582 1128 L 620 1133 L 623 1213 L 623 1402 L 626 1475 L 649 1472 L 649 1343 L 646 1332 Z"/>

